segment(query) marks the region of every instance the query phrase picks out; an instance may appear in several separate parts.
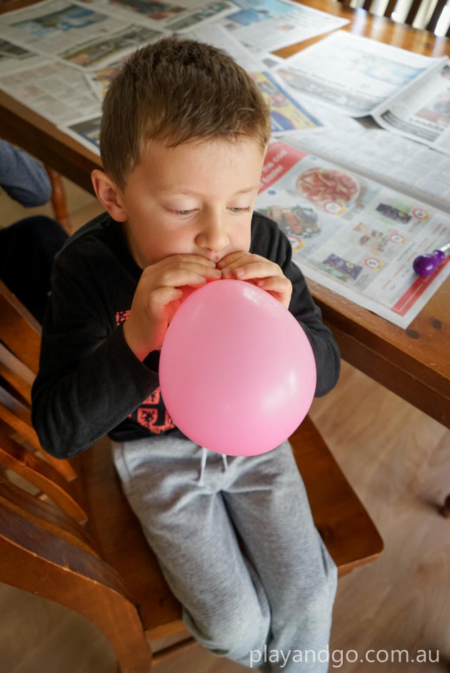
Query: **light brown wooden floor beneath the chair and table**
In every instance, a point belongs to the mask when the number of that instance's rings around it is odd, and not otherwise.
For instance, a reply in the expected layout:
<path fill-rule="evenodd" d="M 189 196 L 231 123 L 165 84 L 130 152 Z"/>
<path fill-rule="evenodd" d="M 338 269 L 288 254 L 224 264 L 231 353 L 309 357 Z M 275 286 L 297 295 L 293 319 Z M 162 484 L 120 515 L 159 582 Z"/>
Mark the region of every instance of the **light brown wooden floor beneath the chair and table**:
<path fill-rule="evenodd" d="M 78 224 L 83 214 L 76 213 Z M 436 508 L 450 492 L 450 431 L 345 363 L 311 416 L 386 544 L 379 560 L 339 580 L 329 671 L 449 671 L 450 520 Z M 370 650 L 375 663 L 364 661 Z M 406 650 L 409 664 L 406 652 L 391 663 L 391 650 Z M 411 662 L 421 650 L 432 663 Z M 196 647 L 155 670 L 246 669 Z M 0 673 L 116 673 L 116 662 L 84 617 L 0 584 Z"/>

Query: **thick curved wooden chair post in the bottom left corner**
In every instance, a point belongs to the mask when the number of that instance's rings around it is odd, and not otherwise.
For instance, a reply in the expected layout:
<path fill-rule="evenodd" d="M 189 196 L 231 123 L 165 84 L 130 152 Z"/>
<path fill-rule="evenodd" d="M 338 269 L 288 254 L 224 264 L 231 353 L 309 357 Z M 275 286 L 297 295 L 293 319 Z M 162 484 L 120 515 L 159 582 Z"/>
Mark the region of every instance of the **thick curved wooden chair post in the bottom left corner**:
<path fill-rule="evenodd" d="M 114 570 L 9 507 L 0 508 L 0 577 L 84 614 L 109 640 L 121 673 L 149 673 L 152 652 L 139 612 Z"/>

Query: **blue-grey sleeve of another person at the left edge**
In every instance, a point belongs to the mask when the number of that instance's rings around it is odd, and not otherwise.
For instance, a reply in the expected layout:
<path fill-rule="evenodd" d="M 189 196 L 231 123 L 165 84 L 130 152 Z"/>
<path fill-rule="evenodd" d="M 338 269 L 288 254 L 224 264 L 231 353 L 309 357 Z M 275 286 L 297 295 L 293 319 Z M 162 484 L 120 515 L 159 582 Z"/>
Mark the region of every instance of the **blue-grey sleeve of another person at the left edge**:
<path fill-rule="evenodd" d="M 47 171 L 21 149 L 0 140 L 0 185 L 26 206 L 44 206 L 51 198 L 51 182 Z"/>

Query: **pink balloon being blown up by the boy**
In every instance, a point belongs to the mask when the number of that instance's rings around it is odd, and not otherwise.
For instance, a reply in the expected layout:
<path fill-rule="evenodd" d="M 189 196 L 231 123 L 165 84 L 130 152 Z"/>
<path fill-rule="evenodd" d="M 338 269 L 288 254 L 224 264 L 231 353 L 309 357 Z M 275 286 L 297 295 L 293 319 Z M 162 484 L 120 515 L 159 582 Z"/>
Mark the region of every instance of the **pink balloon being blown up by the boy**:
<path fill-rule="evenodd" d="M 271 451 L 308 413 L 316 363 L 306 334 L 263 289 L 220 280 L 194 291 L 166 332 L 166 409 L 186 437 L 230 456 Z"/>

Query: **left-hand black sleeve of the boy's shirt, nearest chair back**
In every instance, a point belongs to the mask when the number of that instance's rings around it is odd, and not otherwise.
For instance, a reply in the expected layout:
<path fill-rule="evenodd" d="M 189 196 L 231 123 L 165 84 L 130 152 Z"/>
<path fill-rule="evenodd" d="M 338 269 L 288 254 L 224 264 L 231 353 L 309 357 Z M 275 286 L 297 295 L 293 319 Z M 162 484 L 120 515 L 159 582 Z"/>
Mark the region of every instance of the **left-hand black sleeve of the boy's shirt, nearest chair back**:
<path fill-rule="evenodd" d="M 54 265 L 32 389 L 34 427 L 42 447 L 57 458 L 90 447 L 158 386 L 156 372 L 126 344 L 123 325 L 111 324 L 99 288 L 84 282 L 82 258 L 79 264 L 78 274 L 67 271 L 61 256 Z"/>

